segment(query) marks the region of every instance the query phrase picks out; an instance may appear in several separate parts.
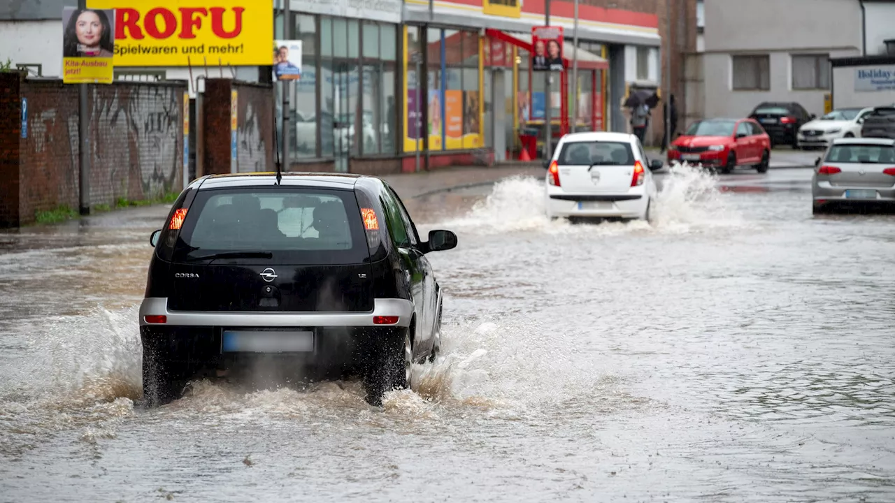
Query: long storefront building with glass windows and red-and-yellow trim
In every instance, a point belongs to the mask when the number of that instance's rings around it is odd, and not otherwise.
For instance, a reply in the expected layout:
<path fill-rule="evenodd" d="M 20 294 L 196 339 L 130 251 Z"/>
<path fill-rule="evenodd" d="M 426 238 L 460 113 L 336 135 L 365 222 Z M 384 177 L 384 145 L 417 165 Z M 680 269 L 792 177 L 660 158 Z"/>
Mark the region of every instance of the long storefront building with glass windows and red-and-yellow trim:
<path fill-rule="evenodd" d="M 288 91 L 291 168 L 382 174 L 517 158 L 520 133 L 543 127 L 548 99 L 528 51 L 543 4 L 516 2 L 293 0 L 303 75 Z M 572 13 L 571 2 L 551 2 L 569 62 L 567 93 L 554 74 L 551 122 L 565 113 L 578 131 L 624 131 L 625 65 L 652 70 L 640 81 L 660 81 L 658 20 L 580 5 L 575 49 Z M 284 38 L 281 12 L 275 30 Z"/>

